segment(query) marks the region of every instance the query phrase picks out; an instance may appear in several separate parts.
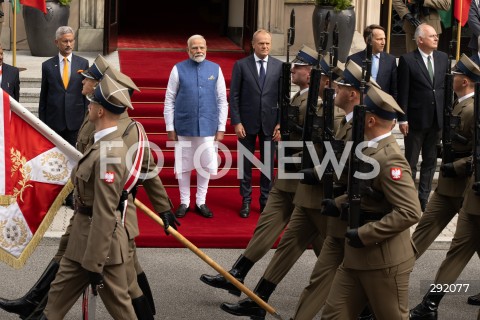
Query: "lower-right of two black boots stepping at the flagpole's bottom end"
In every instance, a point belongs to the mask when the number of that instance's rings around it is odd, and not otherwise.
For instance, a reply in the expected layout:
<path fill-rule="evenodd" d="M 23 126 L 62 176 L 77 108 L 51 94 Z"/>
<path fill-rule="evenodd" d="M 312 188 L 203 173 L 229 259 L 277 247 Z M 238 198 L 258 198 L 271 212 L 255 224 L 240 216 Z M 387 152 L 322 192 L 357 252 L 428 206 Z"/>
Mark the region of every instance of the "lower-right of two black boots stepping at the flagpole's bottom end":
<path fill-rule="evenodd" d="M 270 295 L 276 287 L 276 284 L 261 278 L 253 292 L 262 298 L 263 301 L 268 302 Z M 222 303 L 220 308 L 235 316 L 250 317 L 253 320 L 264 320 L 267 314 L 263 308 L 250 298 L 240 300 L 238 303 Z"/>

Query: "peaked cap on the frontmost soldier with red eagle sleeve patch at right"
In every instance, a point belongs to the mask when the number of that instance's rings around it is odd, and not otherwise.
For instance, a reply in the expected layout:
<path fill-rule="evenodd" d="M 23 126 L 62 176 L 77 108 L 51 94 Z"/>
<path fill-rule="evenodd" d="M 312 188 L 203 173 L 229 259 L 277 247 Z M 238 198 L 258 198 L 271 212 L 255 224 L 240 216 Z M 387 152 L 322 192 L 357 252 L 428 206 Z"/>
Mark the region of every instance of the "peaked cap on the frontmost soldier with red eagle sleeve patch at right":
<path fill-rule="evenodd" d="M 391 95 L 374 86 L 368 90 L 363 102 L 367 111 L 385 120 L 398 118 L 398 113 L 405 114 Z"/>

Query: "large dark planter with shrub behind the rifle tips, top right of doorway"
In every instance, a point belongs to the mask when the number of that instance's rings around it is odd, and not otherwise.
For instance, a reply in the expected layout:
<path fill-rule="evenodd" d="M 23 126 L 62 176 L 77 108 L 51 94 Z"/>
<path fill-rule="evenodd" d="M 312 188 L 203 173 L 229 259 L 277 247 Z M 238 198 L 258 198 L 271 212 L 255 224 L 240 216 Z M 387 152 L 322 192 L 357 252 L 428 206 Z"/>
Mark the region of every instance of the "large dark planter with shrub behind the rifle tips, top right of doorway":
<path fill-rule="evenodd" d="M 335 24 L 338 25 L 338 59 L 345 62 L 350 47 L 352 46 L 353 34 L 355 32 L 355 10 L 352 0 L 315 0 L 315 9 L 312 15 L 313 37 L 315 47 L 320 46 L 320 35 L 325 29 L 325 20 L 328 24 L 328 42 L 324 54 L 332 46 L 332 34 Z"/>

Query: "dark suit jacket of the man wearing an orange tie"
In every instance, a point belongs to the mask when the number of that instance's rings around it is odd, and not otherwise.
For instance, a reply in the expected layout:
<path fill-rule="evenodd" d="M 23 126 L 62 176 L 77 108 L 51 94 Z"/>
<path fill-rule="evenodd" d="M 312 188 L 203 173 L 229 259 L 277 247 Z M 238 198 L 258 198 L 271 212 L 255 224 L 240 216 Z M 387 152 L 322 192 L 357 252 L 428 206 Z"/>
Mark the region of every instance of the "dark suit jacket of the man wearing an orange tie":
<path fill-rule="evenodd" d="M 63 86 L 58 55 L 42 63 L 42 86 L 38 116 L 56 132 L 78 130 L 85 117 L 87 99 L 82 95 L 82 75 L 88 60 L 72 55 L 71 74 L 67 89 Z"/>

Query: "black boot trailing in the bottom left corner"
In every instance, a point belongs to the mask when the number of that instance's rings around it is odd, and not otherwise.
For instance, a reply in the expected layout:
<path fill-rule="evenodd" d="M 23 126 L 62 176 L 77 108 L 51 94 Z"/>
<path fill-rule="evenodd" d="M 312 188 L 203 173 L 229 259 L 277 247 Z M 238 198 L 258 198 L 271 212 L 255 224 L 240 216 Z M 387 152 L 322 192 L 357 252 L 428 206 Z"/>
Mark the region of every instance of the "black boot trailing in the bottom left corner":
<path fill-rule="evenodd" d="M 7 312 L 18 314 L 21 319 L 28 317 L 48 294 L 50 284 L 55 279 L 58 267 L 59 264 L 56 261 L 50 261 L 40 279 L 23 297 L 15 300 L 0 298 L 0 308 Z"/>

